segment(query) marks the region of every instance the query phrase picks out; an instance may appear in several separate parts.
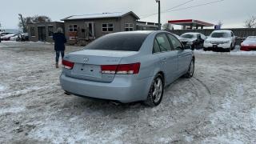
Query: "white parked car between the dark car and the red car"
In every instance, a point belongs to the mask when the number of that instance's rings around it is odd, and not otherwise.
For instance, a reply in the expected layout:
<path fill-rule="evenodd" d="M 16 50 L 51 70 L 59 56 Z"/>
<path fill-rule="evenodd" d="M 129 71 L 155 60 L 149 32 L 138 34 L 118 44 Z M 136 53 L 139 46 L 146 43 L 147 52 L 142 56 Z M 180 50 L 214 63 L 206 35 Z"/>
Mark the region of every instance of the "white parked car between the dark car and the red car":
<path fill-rule="evenodd" d="M 235 36 L 231 30 L 214 30 L 203 44 L 203 50 L 224 50 L 230 52 L 235 47 Z"/>

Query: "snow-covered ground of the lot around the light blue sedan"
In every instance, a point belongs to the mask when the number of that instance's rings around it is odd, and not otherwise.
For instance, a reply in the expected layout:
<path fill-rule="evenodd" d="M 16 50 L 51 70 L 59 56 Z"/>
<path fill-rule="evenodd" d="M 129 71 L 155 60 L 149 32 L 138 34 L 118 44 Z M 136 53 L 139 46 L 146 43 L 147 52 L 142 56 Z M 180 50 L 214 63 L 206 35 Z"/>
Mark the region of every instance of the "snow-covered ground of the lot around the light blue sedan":
<path fill-rule="evenodd" d="M 52 45 L 0 43 L 0 143 L 256 143 L 256 55 L 232 53 L 195 51 L 150 108 L 67 96 Z"/>

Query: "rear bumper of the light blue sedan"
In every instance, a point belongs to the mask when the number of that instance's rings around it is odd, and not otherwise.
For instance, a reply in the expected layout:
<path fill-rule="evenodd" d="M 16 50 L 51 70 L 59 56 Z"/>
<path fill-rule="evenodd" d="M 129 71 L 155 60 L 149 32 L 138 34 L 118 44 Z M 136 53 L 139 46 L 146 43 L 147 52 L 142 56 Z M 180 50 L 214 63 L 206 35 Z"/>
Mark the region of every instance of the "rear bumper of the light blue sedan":
<path fill-rule="evenodd" d="M 136 76 L 116 75 L 113 82 L 91 82 L 78 78 L 60 76 L 62 89 L 70 94 L 90 98 L 100 98 L 118 102 L 146 100 L 153 78 L 137 80 Z"/>

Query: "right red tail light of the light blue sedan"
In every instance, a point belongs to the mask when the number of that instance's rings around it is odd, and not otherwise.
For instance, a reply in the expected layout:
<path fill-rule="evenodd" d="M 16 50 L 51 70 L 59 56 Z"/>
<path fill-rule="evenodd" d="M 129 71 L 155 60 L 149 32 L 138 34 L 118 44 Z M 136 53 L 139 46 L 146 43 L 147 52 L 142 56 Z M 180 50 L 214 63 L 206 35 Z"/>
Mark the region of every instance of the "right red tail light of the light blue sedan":
<path fill-rule="evenodd" d="M 103 65 L 102 74 L 138 74 L 141 63 Z"/>

